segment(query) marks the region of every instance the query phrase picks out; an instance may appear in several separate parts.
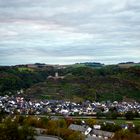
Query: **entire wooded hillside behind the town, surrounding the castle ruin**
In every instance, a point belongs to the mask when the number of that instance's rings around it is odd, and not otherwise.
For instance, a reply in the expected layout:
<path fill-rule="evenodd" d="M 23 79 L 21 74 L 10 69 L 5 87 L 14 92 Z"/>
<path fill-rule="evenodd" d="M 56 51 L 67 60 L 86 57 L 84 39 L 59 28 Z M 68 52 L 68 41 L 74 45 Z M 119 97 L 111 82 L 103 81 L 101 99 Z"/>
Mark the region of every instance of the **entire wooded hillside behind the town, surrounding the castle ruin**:
<path fill-rule="evenodd" d="M 48 78 L 49 75 L 54 76 L 55 72 L 64 76 L 64 79 Z M 26 97 L 39 99 L 140 100 L 140 67 L 1 67 L 0 93 L 16 94 L 20 89 L 24 89 Z"/>

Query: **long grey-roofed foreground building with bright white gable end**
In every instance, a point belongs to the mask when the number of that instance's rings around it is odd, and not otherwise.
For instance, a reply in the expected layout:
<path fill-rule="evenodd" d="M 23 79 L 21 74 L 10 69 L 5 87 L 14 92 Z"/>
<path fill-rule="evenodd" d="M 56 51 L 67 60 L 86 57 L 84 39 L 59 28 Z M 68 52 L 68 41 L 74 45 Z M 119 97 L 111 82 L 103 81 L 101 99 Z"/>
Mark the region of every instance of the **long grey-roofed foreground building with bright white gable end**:
<path fill-rule="evenodd" d="M 82 134 L 88 135 L 92 128 L 90 128 L 89 126 L 85 126 L 85 125 L 77 125 L 77 124 L 71 124 L 69 126 L 69 129 L 74 130 L 74 131 L 79 131 Z"/>

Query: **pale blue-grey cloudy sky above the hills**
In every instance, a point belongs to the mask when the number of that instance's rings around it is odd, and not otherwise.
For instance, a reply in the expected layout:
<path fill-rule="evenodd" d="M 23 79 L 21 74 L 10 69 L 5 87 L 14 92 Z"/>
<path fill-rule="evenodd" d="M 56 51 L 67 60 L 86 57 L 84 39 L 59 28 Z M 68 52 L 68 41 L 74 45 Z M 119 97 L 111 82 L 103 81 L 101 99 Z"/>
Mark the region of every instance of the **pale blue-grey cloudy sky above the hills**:
<path fill-rule="evenodd" d="M 140 0 L 0 0 L 0 65 L 140 62 Z"/>

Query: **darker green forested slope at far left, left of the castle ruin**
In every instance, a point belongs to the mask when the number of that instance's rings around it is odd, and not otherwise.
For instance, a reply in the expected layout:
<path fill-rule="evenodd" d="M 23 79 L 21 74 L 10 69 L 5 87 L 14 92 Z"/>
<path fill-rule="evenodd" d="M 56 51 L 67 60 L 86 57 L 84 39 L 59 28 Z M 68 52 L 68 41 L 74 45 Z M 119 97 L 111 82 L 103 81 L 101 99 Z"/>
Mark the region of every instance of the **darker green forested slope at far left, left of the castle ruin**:
<path fill-rule="evenodd" d="M 0 94 L 15 94 L 17 90 L 27 89 L 35 83 L 43 82 L 53 74 L 53 68 L 45 70 L 23 67 L 0 67 Z"/>

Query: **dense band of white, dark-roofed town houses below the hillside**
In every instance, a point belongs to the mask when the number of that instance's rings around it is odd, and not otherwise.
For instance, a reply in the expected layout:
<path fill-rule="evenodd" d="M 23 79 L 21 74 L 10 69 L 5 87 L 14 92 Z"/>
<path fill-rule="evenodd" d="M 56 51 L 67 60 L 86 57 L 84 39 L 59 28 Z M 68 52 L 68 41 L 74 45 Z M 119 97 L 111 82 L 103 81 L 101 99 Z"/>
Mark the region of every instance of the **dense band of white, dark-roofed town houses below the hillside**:
<path fill-rule="evenodd" d="M 33 115 L 96 115 L 98 111 L 109 112 L 115 108 L 118 113 L 137 111 L 140 113 L 138 102 L 90 102 L 80 103 L 64 100 L 26 100 L 20 96 L 0 96 L 0 111 L 9 114 Z"/>

